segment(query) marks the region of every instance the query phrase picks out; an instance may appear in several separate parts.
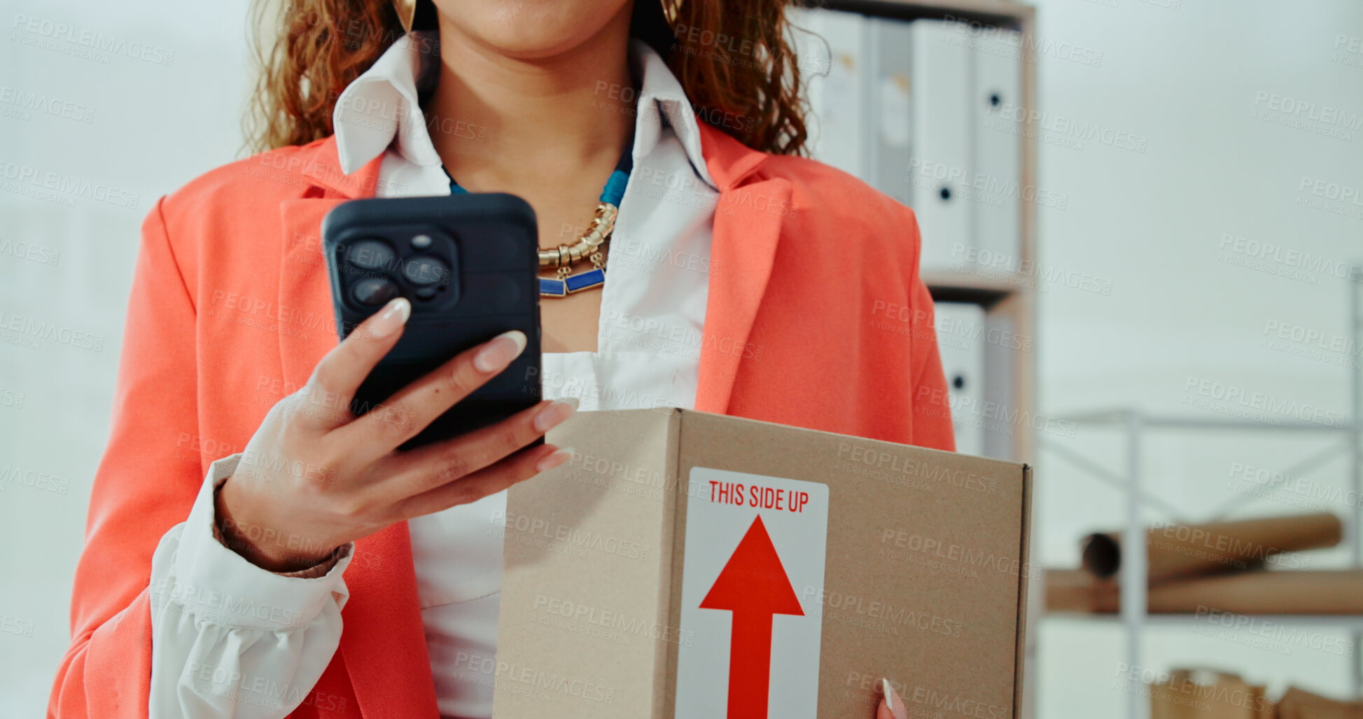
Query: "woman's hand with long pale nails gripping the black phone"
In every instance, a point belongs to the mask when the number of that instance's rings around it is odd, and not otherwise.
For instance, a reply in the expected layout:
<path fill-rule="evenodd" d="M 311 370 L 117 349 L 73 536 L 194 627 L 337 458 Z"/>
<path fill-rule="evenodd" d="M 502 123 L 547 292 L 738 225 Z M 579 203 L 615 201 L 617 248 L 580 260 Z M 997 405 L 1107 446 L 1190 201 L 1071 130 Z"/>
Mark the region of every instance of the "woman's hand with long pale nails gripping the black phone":
<path fill-rule="evenodd" d="M 228 547 L 273 572 L 303 569 L 395 521 L 481 499 L 571 457 L 552 445 L 522 449 L 572 413 L 564 402 L 394 452 L 519 356 L 519 332 L 458 355 L 360 417 L 350 413 L 350 398 L 410 314 L 408 300 L 390 302 L 270 409 L 218 493 Z"/>

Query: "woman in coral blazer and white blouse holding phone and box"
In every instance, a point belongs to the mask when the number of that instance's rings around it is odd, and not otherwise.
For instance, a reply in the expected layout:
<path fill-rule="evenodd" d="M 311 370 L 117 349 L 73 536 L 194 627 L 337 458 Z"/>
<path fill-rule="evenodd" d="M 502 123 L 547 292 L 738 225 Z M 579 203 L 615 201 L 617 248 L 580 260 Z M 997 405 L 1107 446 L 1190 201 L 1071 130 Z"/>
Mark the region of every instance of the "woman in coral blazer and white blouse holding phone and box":
<path fill-rule="evenodd" d="M 784 0 L 425 1 L 403 35 L 386 0 L 290 0 L 271 149 L 149 214 L 52 715 L 489 716 L 461 667 L 496 647 L 487 523 L 571 457 L 522 447 L 574 402 L 394 452 L 508 333 L 353 417 L 410 306 L 337 344 L 318 233 L 346 199 L 514 192 L 555 248 L 626 172 L 601 256 L 564 267 L 608 281 L 541 303 L 548 397 L 953 449 L 913 214 L 797 157 Z M 878 712 L 906 714 L 889 682 Z"/>

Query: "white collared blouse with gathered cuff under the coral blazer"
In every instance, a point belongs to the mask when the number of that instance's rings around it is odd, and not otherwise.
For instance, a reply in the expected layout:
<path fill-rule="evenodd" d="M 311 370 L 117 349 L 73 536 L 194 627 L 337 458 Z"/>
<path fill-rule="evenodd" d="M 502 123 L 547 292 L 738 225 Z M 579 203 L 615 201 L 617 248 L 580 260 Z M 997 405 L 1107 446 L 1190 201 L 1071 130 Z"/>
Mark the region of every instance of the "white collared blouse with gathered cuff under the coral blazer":
<path fill-rule="evenodd" d="M 417 104 L 423 57 L 417 45 L 399 40 L 337 101 L 341 166 L 350 173 L 382 153 L 383 196 L 450 191 Z M 643 42 L 631 41 L 630 50 L 641 79 L 634 171 L 611 240 L 598 349 L 547 353 L 542 360 L 545 398 L 575 398 L 585 411 L 695 402 L 718 191 L 682 85 Z M 153 719 L 282 718 L 311 692 L 339 643 L 349 555 L 323 577 L 297 578 L 245 565 L 213 540 L 213 486 L 232 473 L 237 458 L 210 467 L 188 521 L 166 532 L 153 557 Z M 499 493 L 409 523 L 431 674 L 444 718 L 492 715 L 491 677 L 470 667 L 496 652 L 502 540 L 495 529 L 504 509 L 506 494 Z M 192 583 L 185 581 L 191 576 Z M 179 598 L 181 584 L 256 603 L 267 598 L 290 621 L 270 623 L 232 611 L 204 615 L 198 610 L 202 602 Z M 282 701 L 251 701 L 240 692 L 222 694 L 221 684 L 195 681 L 232 673 L 289 682 L 294 690 Z"/>

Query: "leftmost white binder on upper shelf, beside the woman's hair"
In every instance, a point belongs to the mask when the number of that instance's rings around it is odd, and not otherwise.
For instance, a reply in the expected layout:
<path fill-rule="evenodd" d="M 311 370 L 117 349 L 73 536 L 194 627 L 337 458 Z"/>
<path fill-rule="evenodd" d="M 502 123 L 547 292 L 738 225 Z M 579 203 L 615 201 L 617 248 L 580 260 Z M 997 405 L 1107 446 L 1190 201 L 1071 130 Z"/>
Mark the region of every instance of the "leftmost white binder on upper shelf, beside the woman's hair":
<path fill-rule="evenodd" d="M 811 156 L 866 177 L 864 108 L 870 19 L 855 12 L 789 8 L 811 113 Z M 827 46 L 825 46 L 825 42 Z"/>

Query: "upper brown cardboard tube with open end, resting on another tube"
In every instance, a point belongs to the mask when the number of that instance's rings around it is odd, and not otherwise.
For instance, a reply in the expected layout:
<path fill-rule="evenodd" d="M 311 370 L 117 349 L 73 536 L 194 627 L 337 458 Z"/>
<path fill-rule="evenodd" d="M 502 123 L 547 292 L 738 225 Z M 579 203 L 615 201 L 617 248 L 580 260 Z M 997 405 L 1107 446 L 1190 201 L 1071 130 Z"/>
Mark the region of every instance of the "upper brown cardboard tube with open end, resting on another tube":
<path fill-rule="evenodd" d="M 1146 535 L 1152 583 L 1174 577 L 1255 569 L 1284 551 L 1333 547 L 1344 536 L 1329 512 L 1259 520 L 1156 527 Z M 1084 539 L 1084 569 L 1111 577 L 1122 566 L 1122 533 Z"/>

